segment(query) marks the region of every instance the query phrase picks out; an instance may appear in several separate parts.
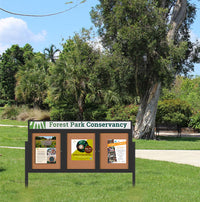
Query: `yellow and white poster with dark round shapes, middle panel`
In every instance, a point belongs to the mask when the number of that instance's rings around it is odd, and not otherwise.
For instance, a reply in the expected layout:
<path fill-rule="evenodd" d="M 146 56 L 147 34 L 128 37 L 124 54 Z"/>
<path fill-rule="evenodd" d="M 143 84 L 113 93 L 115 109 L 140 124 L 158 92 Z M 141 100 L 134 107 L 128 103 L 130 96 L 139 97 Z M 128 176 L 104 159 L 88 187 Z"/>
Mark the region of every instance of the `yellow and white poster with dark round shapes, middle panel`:
<path fill-rule="evenodd" d="M 71 140 L 71 160 L 91 161 L 93 160 L 93 140 L 92 139 L 72 139 Z"/>

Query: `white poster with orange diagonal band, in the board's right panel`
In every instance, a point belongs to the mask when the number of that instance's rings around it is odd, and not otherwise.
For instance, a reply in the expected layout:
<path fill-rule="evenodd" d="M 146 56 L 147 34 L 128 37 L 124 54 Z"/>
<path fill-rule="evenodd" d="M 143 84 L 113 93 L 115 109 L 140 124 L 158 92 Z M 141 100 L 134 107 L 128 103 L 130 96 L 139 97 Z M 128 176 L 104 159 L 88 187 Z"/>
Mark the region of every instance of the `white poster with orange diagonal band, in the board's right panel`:
<path fill-rule="evenodd" d="M 109 139 L 108 163 L 126 163 L 126 139 Z"/>

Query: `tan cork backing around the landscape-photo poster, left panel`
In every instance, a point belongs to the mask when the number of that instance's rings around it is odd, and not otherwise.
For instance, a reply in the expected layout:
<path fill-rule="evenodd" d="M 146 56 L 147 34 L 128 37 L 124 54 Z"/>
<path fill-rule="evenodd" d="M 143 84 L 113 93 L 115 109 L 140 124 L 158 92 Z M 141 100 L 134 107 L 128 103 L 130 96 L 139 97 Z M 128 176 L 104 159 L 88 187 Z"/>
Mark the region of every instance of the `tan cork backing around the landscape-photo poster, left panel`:
<path fill-rule="evenodd" d="M 36 163 L 36 149 L 35 149 L 35 137 L 37 136 L 55 136 L 56 137 L 56 163 L 55 164 L 37 164 Z M 32 169 L 60 169 L 60 133 L 33 133 L 32 134 Z"/>

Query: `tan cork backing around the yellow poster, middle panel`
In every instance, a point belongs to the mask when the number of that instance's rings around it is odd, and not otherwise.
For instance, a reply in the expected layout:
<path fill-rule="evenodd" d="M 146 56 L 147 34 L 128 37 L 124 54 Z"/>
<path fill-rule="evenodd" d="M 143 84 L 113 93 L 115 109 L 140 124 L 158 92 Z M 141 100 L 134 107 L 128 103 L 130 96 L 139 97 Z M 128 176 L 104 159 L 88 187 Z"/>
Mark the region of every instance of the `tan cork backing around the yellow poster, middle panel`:
<path fill-rule="evenodd" d="M 71 160 L 72 139 L 92 139 L 92 160 Z M 67 169 L 95 169 L 95 133 L 67 133 Z"/>

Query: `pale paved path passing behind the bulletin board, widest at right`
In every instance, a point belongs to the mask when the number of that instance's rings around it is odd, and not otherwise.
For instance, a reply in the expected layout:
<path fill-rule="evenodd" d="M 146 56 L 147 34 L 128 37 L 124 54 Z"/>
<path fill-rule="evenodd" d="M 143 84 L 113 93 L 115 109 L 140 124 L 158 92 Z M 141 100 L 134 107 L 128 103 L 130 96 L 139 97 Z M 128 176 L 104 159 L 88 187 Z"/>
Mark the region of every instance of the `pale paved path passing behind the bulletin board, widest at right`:
<path fill-rule="evenodd" d="M 0 146 L 8 149 L 25 149 L 24 147 Z M 136 158 L 169 161 L 200 167 L 200 150 L 145 150 L 136 149 Z"/>

